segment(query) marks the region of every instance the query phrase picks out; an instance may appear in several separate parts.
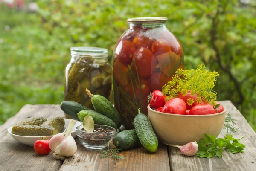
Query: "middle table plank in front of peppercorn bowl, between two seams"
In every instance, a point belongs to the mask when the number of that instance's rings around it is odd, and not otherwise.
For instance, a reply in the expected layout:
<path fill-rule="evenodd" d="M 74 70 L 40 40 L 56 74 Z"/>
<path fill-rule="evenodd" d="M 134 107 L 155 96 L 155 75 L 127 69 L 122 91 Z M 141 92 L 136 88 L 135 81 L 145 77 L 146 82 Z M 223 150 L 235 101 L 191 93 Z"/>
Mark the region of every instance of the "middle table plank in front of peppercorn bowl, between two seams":
<path fill-rule="evenodd" d="M 79 150 L 72 158 L 65 159 L 60 171 L 170 171 L 167 147 L 162 143 L 154 154 L 138 147 L 121 152 L 126 159 L 116 161 L 112 157 L 101 159 L 99 150 L 83 147 L 78 139 L 76 142 Z"/>

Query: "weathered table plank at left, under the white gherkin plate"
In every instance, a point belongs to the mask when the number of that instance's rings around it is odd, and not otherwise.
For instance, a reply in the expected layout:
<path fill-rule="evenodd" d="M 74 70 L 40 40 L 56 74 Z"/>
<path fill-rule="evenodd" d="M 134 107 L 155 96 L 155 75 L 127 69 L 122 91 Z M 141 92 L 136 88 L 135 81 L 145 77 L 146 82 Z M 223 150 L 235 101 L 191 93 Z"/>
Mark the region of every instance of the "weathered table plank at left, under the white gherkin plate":
<path fill-rule="evenodd" d="M 36 154 L 33 147 L 23 145 L 9 135 L 7 129 L 27 117 L 64 116 L 58 105 L 25 105 L 17 115 L 0 126 L 0 170 L 1 171 L 58 171 L 62 161 L 55 160 L 52 153 Z"/>

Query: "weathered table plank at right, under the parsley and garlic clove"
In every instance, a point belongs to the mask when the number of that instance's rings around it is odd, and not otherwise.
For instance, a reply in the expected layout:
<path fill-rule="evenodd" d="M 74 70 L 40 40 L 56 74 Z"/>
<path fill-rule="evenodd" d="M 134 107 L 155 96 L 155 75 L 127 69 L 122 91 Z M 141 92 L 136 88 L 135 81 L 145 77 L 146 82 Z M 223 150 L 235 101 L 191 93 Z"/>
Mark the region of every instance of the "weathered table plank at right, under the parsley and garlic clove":
<path fill-rule="evenodd" d="M 186 157 L 178 148 L 169 147 L 172 171 L 256 171 L 256 133 L 231 101 L 221 101 L 221 104 L 227 108 L 227 112 L 233 114 L 233 119 L 237 120 L 239 134 L 233 134 L 234 137 L 245 136 L 241 139 L 241 143 L 246 146 L 244 153 L 232 154 L 224 151 L 221 159 L 200 159 L 197 156 Z M 224 137 L 226 133 L 226 130 L 222 130 L 220 137 Z"/>

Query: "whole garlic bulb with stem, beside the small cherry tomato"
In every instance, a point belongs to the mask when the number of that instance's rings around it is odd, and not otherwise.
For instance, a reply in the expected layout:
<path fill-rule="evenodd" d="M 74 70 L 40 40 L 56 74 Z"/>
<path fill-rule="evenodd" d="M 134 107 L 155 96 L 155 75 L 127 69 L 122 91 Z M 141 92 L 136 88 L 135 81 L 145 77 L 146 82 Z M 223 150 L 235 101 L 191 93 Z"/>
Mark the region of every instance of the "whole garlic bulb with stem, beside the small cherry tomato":
<path fill-rule="evenodd" d="M 72 119 L 68 128 L 63 133 L 58 133 L 49 141 L 49 148 L 54 151 L 53 156 L 57 159 L 73 156 L 76 153 L 76 141 L 71 136 L 75 121 Z"/>

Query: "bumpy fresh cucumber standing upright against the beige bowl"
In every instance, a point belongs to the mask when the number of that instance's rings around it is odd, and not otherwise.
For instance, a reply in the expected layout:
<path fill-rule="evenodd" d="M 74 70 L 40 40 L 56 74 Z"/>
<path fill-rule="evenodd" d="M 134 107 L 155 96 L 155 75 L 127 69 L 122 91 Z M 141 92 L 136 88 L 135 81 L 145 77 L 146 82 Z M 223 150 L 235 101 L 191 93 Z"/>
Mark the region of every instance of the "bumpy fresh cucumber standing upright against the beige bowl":
<path fill-rule="evenodd" d="M 157 136 L 154 133 L 148 116 L 140 113 L 140 110 L 139 114 L 137 114 L 134 118 L 134 128 L 143 147 L 151 153 L 157 151 Z"/>

